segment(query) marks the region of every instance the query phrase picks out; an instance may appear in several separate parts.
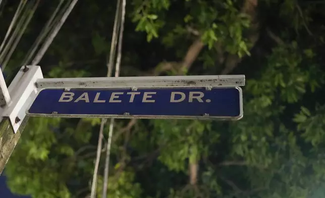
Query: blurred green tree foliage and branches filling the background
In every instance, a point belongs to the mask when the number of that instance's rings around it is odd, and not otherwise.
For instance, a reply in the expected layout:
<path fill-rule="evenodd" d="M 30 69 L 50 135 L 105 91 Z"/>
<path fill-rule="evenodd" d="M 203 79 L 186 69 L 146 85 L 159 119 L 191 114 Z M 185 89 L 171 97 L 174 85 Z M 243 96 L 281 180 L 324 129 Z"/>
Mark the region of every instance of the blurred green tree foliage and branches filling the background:
<path fill-rule="evenodd" d="M 57 3 L 40 5 L 8 72 L 15 75 Z M 16 7 L 5 7 L 2 24 Z M 79 1 L 40 63 L 45 76 L 104 76 L 115 7 Z M 109 197 L 323 197 L 323 9 L 317 1 L 291 0 L 127 2 L 122 76 L 245 74 L 244 117 L 118 120 Z M 5 35 L 5 27 L 0 31 Z M 11 190 L 88 195 L 99 125 L 100 119 L 30 119 L 6 168 Z"/>

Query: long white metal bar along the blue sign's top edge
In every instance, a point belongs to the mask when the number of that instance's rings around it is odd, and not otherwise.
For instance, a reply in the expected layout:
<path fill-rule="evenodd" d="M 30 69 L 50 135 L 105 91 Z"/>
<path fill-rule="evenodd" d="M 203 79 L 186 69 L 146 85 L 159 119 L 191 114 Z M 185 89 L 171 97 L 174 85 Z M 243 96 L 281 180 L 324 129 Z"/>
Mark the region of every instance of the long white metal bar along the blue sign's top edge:
<path fill-rule="evenodd" d="M 43 78 L 36 81 L 42 88 L 155 88 L 244 86 L 245 75 L 136 76 L 99 78 Z"/>

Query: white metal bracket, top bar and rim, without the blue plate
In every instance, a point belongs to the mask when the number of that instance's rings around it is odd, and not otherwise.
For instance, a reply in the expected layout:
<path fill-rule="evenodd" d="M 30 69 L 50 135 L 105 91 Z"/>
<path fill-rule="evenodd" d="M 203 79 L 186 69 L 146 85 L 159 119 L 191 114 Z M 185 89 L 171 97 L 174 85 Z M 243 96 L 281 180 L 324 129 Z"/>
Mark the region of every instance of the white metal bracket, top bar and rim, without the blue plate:
<path fill-rule="evenodd" d="M 2 78 L 1 78 L 2 76 Z M 5 86 L 0 76 L 1 118 L 10 119 L 14 132 L 25 116 L 66 118 L 144 118 L 144 119 L 219 119 L 239 120 L 243 117 L 243 93 L 245 75 L 201 75 L 201 76 L 144 76 L 144 77 L 100 77 L 100 78 L 43 78 L 39 66 L 22 66 L 10 86 Z M 42 89 L 131 89 L 138 88 L 237 88 L 239 90 L 240 115 L 238 117 L 202 116 L 137 116 L 137 115 L 63 115 L 31 114 L 28 112 L 37 94 Z M 127 112 L 126 112 L 127 113 Z"/>

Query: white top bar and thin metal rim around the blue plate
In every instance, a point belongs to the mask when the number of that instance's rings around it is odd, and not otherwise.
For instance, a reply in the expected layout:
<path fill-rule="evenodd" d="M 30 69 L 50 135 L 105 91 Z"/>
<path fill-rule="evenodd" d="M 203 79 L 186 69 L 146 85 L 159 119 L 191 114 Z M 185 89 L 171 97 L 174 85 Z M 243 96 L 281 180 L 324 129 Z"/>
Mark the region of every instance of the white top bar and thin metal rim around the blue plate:
<path fill-rule="evenodd" d="M 218 119 L 218 120 L 239 120 L 243 117 L 242 89 L 245 85 L 245 75 L 201 75 L 201 76 L 145 76 L 145 77 L 100 77 L 100 78 L 43 78 L 36 81 L 38 93 L 43 89 L 130 89 L 141 88 L 237 88 L 239 91 L 240 114 L 238 117 L 217 117 L 217 116 L 152 116 L 152 115 L 87 115 L 87 114 L 26 114 L 30 117 L 63 117 L 63 118 L 125 118 L 125 119 Z M 32 105 L 32 104 L 31 104 Z M 30 105 L 30 106 L 31 106 Z"/>

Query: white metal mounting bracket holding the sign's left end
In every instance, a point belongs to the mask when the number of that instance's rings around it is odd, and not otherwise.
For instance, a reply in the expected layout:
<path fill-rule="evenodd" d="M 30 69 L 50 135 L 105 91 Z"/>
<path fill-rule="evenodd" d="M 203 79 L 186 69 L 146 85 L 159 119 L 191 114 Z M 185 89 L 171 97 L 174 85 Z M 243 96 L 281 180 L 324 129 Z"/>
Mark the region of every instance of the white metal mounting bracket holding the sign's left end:
<path fill-rule="evenodd" d="M 6 105 L 0 108 L 1 119 L 4 117 L 9 118 L 14 133 L 16 133 L 26 116 L 27 109 L 35 100 L 37 94 L 35 82 L 37 79 L 43 78 L 43 74 L 39 66 L 23 66 L 8 89 L 3 87 L 1 76 L 0 87 L 2 93 L 3 95 L 5 95 L 6 91 L 9 93 L 9 101 L 6 101 Z"/>

